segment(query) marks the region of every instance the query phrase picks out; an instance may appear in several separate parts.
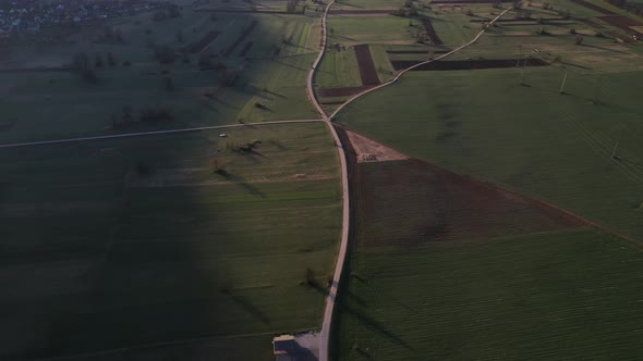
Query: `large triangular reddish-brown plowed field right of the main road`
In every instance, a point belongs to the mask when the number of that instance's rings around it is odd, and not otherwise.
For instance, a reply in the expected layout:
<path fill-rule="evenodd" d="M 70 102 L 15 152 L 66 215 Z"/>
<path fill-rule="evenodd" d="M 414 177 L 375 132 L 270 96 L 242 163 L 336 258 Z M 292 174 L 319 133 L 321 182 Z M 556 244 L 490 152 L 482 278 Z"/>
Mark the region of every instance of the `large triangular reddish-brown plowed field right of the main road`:
<path fill-rule="evenodd" d="M 356 238 L 367 247 L 484 239 L 585 224 L 539 201 L 417 160 L 360 163 L 355 170 Z"/>

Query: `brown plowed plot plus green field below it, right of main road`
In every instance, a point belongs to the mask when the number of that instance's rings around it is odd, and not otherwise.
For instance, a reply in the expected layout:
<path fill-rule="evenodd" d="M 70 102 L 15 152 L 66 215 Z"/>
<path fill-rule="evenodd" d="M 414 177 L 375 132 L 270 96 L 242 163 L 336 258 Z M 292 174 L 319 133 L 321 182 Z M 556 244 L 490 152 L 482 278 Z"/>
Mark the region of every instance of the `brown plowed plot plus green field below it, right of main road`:
<path fill-rule="evenodd" d="M 642 354 L 638 246 L 420 161 L 357 164 L 354 190 L 339 360 Z"/>

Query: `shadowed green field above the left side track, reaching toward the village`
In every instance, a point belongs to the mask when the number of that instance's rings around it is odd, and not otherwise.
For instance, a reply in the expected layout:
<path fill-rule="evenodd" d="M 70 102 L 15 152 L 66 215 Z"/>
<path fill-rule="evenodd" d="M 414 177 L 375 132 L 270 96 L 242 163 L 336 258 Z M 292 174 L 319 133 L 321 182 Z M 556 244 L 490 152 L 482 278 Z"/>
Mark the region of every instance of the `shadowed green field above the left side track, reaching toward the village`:
<path fill-rule="evenodd" d="M 105 32 L 101 25 L 62 36 L 52 45 L 29 43 L 36 40 L 10 45 L 0 70 L 32 71 L 0 73 L 0 108 L 12 124 L 0 128 L 0 141 L 317 117 L 305 82 L 318 47 L 318 27 L 312 25 L 318 18 L 219 13 L 213 21 L 210 15 L 186 7 L 181 17 L 161 23 L 153 22 L 149 13 L 107 21 L 106 26 L 122 33 L 123 43 L 96 42 Z M 226 57 L 253 22 L 254 29 Z M 220 35 L 201 53 L 180 53 L 210 32 Z M 153 46 L 170 47 L 177 61 L 159 63 Z M 114 66 L 107 64 L 109 52 Z M 102 60 L 104 65 L 95 69 L 97 84 L 83 80 L 76 72 L 33 71 L 70 64 L 78 53 L 86 53 L 92 66 L 96 58 Z M 202 57 L 226 69 L 202 71 Z M 166 78 L 172 89 L 166 87 Z M 171 122 L 110 128 L 112 117 L 120 119 L 125 107 L 137 113 L 159 105 L 172 113 Z"/>

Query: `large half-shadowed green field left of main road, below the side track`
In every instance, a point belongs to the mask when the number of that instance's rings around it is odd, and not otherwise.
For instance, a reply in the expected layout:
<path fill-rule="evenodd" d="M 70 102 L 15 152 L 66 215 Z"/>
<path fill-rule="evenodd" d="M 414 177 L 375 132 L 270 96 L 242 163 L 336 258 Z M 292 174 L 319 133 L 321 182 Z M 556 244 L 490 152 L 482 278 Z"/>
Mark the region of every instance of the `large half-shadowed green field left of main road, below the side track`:
<path fill-rule="evenodd" d="M 318 329 L 304 272 L 324 284 L 341 229 L 328 129 L 221 132 L 0 152 L 0 358 L 267 360 L 274 335 Z"/>

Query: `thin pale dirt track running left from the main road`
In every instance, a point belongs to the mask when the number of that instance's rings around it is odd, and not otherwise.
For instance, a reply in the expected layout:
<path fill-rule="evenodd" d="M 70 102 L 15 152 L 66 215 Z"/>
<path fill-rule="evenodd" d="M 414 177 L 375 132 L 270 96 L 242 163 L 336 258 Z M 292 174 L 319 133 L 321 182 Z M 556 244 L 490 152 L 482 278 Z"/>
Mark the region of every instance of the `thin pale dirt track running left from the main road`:
<path fill-rule="evenodd" d="M 80 137 L 80 138 L 69 138 L 69 139 L 54 139 L 54 140 L 14 142 L 14 144 L 0 145 L 0 149 L 2 149 L 2 148 L 28 147 L 28 146 L 57 145 L 57 144 L 77 142 L 77 141 L 92 141 L 92 140 L 102 140 L 102 139 L 145 137 L 145 136 L 155 136 L 155 135 L 163 135 L 163 134 L 205 132 L 205 130 L 213 130 L 213 129 L 240 128 L 240 127 L 244 127 L 244 126 L 253 127 L 253 126 L 258 126 L 258 125 L 271 125 L 271 124 L 314 123 L 314 122 L 322 122 L 322 121 L 323 120 L 271 121 L 271 122 L 259 122 L 259 123 L 243 123 L 243 124 L 229 124 L 229 125 L 199 126 L 199 127 L 193 127 L 193 128 L 168 129 L 168 130 L 153 130 L 153 132 L 139 132 L 139 133 L 123 133 L 123 134 L 113 134 L 113 135 L 106 135 L 106 136 L 93 136 L 93 137 Z"/>

